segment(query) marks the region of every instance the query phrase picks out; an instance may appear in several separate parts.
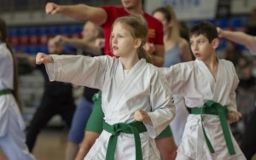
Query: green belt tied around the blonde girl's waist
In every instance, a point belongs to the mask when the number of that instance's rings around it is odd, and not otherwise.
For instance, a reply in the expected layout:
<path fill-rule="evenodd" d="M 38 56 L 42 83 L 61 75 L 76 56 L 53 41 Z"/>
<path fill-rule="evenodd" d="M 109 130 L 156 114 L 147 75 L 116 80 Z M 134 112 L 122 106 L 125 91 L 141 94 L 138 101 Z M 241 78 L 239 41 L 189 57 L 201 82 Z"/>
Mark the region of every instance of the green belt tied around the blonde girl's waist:
<path fill-rule="evenodd" d="M 143 159 L 143 151 L 139 133 L 146 132 L 147 129 L 142 122 L 116 123 L 113 125 L 109 125 L 108 123 L 103 122 L 103 129 L 112 134 L 108 140 L 108 149 L 106 155 L 107 160 L 113 160 L 114 158 L 114 152 L 119 133 L 134 134 L 136 160 Z"/>

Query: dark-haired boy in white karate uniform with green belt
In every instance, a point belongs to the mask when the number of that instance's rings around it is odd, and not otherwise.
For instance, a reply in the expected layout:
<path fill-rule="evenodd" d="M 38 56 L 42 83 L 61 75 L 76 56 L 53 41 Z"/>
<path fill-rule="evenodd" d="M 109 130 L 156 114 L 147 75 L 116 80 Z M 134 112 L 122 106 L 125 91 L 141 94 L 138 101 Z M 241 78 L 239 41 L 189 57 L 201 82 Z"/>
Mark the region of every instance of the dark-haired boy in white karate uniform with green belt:
<path fill-rule="evenodd" d="M 233 64 L 215 54 L 218 31 L 201 22 L 190 29 L 189 37 L 196 60 L 161 69 L 172 93 L 183 95 L 191 108 L 176 159 L 246 159 L 228 124 L 241 118 L 235 93 L 239 79 Z"/>

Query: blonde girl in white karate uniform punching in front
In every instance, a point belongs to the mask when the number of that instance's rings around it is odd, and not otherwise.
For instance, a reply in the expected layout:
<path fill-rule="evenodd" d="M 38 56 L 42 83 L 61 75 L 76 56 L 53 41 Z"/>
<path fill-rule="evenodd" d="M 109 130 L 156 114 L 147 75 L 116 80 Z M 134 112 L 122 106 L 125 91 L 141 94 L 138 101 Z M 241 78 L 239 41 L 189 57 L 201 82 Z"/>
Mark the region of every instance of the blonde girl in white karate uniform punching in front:
<path fill-rule="evenodd" d="M 45 64 L 52 81 L 102 90 L 104 130 L 84 159 L 160 159 L 154 138 L 172 122 L 175 107 L 166 77 L 147 63 L 148 25 L 131 15 L 115 20 L 111 30 L 119 59 L 39 53 L 37 63 Z"/>

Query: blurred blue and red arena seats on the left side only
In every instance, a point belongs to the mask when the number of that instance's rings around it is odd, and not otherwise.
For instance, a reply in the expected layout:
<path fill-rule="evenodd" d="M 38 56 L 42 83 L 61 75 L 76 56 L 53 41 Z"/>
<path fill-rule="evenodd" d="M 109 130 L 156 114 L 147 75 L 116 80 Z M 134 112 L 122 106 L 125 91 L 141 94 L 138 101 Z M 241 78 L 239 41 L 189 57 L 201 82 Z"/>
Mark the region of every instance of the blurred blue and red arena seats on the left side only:
<path fill-rule="evenodd" d="M 63 26 L 17 26 L 9 28 L 9 43 L 15 52 L 36 54 L 39 51 L 47 53 L 49 37 L 61 34 L 66 37 L 82 37 L 83 24 Z M 67 49 L 69 49 L 67 47 Z"/>

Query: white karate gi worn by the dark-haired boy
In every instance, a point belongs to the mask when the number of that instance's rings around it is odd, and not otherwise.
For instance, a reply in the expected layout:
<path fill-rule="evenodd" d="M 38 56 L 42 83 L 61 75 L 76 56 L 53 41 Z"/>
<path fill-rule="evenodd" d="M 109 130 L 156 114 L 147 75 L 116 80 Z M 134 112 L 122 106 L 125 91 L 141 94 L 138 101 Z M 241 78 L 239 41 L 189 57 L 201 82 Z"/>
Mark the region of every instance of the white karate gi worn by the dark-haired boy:
<path fill-rule="evenodd" d="M 239 83 L 233 64 L 228 60 L 218 60 L 218 77 L 215 82 L 211 72 L 201 60 L 180 63 L 161 69 L 171 85 L 172 93 L 183 95 L 186 106 L 203 106 L 207 100 L 214 100 L 229 111 L 236 111 L 235 89 Z M 178 106 L 177 106 L 178 107 Z M 236 155 L 230 156 L 224 134 L 217 115 L 203 115 L 207 136 L 216 153 L 212 154 L 205 142 L 201 128 L 201 115 L 190 114 L 177 149 L 177 159 L 183 155 L 192 159 L 245 159 L 233 135 L 231 139 Z"/>

